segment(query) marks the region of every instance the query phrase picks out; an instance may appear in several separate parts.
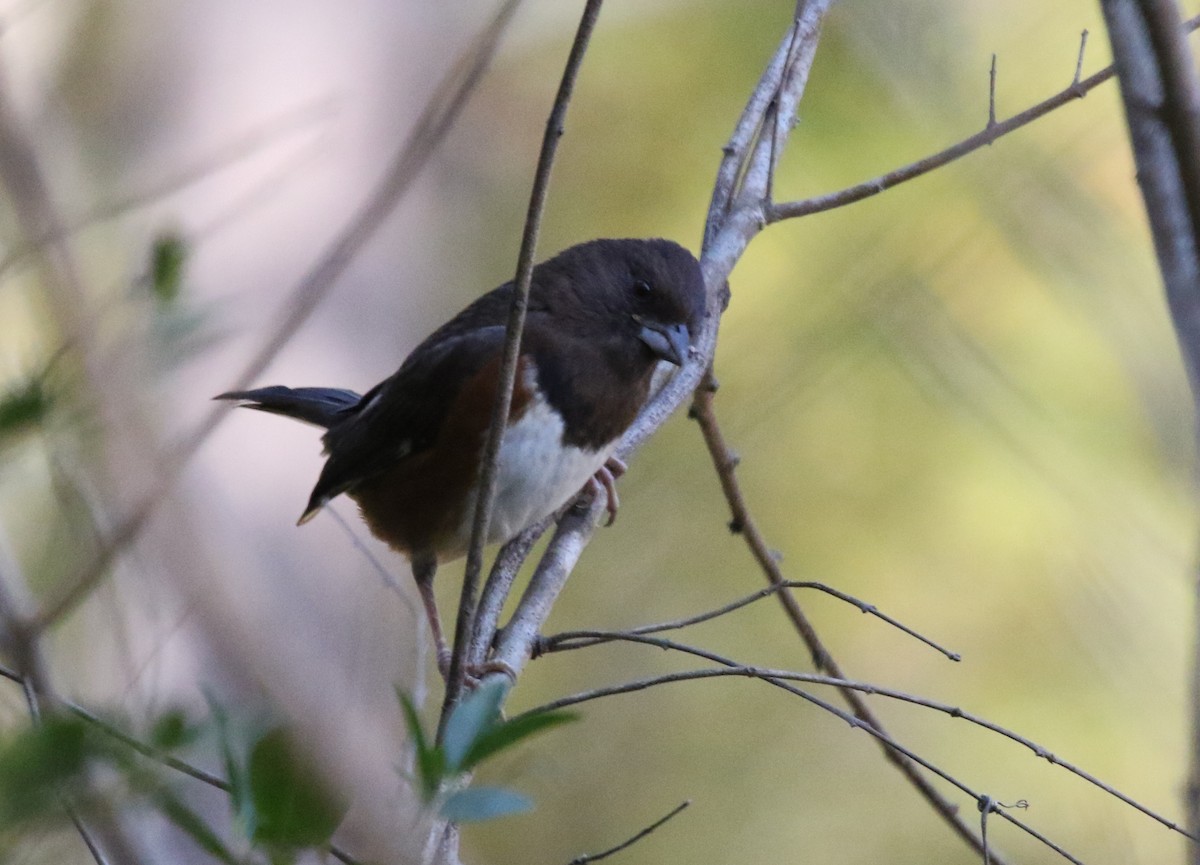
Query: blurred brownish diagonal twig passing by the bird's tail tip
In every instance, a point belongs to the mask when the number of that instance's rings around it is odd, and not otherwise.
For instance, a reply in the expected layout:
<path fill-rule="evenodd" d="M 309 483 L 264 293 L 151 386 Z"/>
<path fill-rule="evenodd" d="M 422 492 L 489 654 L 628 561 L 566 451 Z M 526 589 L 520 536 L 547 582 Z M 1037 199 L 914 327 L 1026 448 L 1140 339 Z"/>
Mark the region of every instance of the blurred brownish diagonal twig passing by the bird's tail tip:
<path fill-rule="evenodd" d="M 460 58 L 438 85 L 421 113 L 413 132 L 392 160 L 388 172 L 370 198 L 329 245 L 325 253 L 281 305 L 282 314 L 265 344 L 246 364 L 230 390 L 253 384 L 275 355 L 290 341 L 317 305 L 324 300 L 335 281 L 354 259 L 359 250 L 373 236 L 386 216 L 408 192 L 430 157 L 449 133 L 468 98 L 487 70 L 500 36 L 504 34 L 521 0 L 506 0 L 496 17 L 484 29 L 474 44 Z M 142 533 L 158 503 L 174 487 L 188 462 L 209 435 L 228 416 L 229 406 L 214 407 L 196 427 L 185 434 L 168 452 L 151 489 L 114 525 L 108 543 L 76 575 L 67 588 L 35 617 L 38 629 L 44 629 L 72 611 L 108 573 L 109 566 Z"/>

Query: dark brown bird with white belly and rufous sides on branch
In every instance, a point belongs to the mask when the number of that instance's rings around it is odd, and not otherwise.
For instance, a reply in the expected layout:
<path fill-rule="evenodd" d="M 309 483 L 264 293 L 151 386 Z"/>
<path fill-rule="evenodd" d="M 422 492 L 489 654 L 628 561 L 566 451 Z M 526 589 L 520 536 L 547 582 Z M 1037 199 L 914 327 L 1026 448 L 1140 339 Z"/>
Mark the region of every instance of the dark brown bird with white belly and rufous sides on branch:
<path fill-rule="evenodd" d="M 358 504 L 371 533 L 412 564 L 443 677 L 450 650 L 433 577 L 470 542 L 514 290 L 506 282 L 480 296 L 361 396 L 272 385 L 214 397 L 325 430 L 325 463 L 298 524 L 343 493 Z M 613 452 L 694 350 L 704 298 L 695 257 L 658 238 L 593 240 L 533 269 L 488 543 L 582 492 L 602 489 L 613 521 L 625 470 Z"/>

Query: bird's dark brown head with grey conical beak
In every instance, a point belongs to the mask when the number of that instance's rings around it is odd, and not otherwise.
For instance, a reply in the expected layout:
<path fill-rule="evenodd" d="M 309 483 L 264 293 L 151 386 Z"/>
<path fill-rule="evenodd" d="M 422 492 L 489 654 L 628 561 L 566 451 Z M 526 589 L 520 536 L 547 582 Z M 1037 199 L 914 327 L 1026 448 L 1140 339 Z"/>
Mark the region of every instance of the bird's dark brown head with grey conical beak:
<path fill-rule="evenodd" d="M 594 240 L 541 264 L 529 304 L 630 362 L 678 366 L 704 318 L 704 282 L 692 254 L 670 240 Z"/>

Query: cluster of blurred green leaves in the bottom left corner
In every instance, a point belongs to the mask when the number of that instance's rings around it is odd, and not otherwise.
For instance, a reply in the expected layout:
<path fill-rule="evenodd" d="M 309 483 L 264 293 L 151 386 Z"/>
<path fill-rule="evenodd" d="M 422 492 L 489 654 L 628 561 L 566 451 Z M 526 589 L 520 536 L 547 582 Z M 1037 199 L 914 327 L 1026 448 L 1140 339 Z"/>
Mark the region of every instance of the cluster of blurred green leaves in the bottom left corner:
<path fill-rule="evenodd" d="M 324 848 L 346 805 L 332 795 L 283 726 L 230 720 L 212 705 L 212 722 L 179 709 L 149 719 L 144 741 L 127 719 L 59 713 L 0 741 L 0 841 L 6 851 L 78 817 L 103 824 L 114 807 L 149 806 L 218 861 L 294 863 Z M 216 741 L 211 733 L 215 733 Z M 181 749 L 223 755 L 230 818 L 214 824 L 181 792 L 186 780 L 168 758 Z M 101 771 L 104 770 L 104 771 Z M 234 831 L 236 830 L 236 833 Z M 236 837 L 241 840 L 238 841 Z"/>

